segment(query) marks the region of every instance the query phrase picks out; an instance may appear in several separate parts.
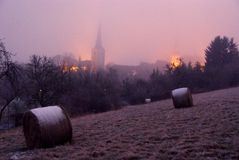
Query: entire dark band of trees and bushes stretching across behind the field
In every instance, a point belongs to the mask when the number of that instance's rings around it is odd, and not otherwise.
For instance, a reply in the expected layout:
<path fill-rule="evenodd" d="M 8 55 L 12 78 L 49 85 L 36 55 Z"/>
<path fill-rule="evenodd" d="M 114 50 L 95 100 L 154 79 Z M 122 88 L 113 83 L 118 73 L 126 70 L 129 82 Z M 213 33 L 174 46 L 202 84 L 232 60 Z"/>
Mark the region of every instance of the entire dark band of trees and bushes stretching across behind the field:
<path fill-rule="evenodd" d="M 155 69 L 147 80 L 129 77 L 120 81 L 113 69 L 72 71 L 46 56 L 33 55 L 26 64 L 15 63 L 11 57 L 1 43 L 0 119 L 13 102 L 16 113 L 22 108 L 62 105 L 76 115 L 140 104 L 146 98 L 168 98 L 178 87 L 203 92 L 239 84 L 237 45 L 233 39 L 219 36 L 205 50 L 205 65 L 186 64 L 179 58 L 177 65 L 167 65 L 165 72 Z"/>

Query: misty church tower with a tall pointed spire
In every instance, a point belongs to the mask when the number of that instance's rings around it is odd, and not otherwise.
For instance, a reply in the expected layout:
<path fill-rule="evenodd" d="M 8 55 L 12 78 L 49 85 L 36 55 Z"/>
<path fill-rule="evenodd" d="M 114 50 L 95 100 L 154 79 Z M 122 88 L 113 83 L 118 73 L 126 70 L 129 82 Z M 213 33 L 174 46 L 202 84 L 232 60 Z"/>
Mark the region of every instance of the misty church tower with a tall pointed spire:
<path fill-rule="evenodd" d="M 93 71 L 104 70 L 105 66 L 105 49 L 102 46 L 101 27 L 98 29 L 95 47 L 91 54 Z"/>

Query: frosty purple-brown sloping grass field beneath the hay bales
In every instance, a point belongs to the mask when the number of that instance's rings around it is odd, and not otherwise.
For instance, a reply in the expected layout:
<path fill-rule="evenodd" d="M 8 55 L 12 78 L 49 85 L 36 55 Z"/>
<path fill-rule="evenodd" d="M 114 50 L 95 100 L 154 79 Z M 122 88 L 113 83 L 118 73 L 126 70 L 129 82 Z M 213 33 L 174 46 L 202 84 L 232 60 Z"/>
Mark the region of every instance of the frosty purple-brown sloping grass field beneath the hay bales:
<path fill-rule="evenodd" d="M 21 128 L 0 133 L 0 159 L 239 159 L 239 88 L 72 119 L 73 144 L 27 150 Z"/>

